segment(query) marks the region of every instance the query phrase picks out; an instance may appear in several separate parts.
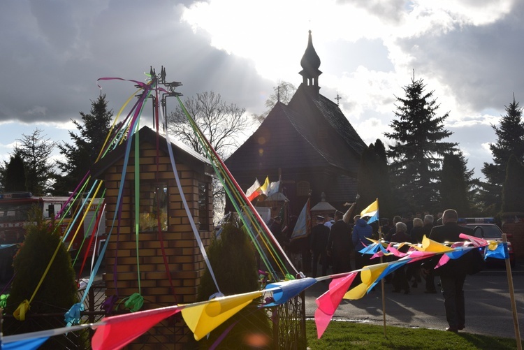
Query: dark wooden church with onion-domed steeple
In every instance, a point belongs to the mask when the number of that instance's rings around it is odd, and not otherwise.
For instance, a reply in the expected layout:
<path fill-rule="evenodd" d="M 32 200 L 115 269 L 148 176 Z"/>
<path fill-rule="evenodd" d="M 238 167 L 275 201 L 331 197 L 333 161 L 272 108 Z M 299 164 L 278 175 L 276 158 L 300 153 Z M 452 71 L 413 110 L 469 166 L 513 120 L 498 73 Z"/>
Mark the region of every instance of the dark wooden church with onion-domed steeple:
<path fill-rule="evenodd" d="M 258 178 L 281 179 L 289 214 L 297 215 L 311 193 L 312 205 L 324 193 L 333 207 L 353 202 L 365 143 L 337 103 L 320 94 L 320 58 L 311 31 L 300 61 L 303 82 L 287 105 L 277 102 L 259 129 L 226 161 L 245 191 Z M 230 210 L 226 205 L 226 210 Z"/>

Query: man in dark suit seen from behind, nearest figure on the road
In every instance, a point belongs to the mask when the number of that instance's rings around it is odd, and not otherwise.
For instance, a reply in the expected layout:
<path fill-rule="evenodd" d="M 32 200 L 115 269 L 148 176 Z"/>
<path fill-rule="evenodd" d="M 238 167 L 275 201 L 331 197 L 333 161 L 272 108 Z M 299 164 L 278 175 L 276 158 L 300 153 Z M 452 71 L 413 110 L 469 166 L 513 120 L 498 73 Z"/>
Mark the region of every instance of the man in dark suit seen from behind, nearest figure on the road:
<path fill-rule="evenodd" d="M 430 239 L 436 242 L 458 242 L 463 241 L 460 233 L 474 235 L 471 228 L 459 226 L 456 210 L 448 209 L 442 214 L 442 225 L 432 228 Z M 463 286 L 469 265 L 469 253 L 458 259 L 450 259 L 445 265 L 435 270 L 440 275 L 442 296 L 444 296 L 444 307 L 446 308 L 446 319 L 449 327 L 446 330 L 457 332 L 465 328 L 465 303 Z"/>

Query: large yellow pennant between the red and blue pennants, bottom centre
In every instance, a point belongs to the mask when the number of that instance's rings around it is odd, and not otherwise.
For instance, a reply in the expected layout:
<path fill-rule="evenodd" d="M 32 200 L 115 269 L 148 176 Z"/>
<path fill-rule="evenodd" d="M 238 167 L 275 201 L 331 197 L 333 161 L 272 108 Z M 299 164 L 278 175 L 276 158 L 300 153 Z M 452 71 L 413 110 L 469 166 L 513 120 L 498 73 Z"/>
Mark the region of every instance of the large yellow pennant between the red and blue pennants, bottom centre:
<path fill-rule="evenodd" d="M 196 306 L 187 305 L 182 309 L 182 317 L 193 332 L 195 340 L 217 328 L 231 316 L 249 305 L 255 298 L 262 296 L 261 291 L 225 296 L 204 302 Z"/>

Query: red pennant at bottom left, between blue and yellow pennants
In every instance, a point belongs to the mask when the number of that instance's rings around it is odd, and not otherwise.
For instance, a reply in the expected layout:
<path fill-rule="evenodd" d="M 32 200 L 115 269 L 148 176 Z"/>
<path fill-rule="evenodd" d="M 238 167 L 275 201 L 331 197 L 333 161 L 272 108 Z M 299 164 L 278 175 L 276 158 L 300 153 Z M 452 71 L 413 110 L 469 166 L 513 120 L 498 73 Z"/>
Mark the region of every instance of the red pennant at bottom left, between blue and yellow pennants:
<path fill-rule="evenodd" d="M 180 309 L 182 309 L 180 306 L 170 306 L 106 317 L 101 321 L 103 324 L 96 328 L 91 347 L 93 350 L 122 349 L 152 326 L 173 316 Z"/>

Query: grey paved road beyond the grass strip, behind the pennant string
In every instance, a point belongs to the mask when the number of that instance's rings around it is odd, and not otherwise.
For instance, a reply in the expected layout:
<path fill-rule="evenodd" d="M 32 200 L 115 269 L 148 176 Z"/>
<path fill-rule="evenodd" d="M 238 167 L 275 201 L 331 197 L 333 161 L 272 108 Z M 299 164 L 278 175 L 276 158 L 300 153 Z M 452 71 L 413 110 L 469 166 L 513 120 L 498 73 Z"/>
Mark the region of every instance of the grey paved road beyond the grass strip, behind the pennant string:
<path fill-rule="evenodd" d="M 517 267 L 513 273 L 518 323 L 524 337 L 524 269 Z M 435 283 L 438 278 L 435 279 Z M 350 320 L 383 325 L 380 284 L 360 300 L 342 300 L 333 320 Z M 408 295 L 393 293 L 391 284 L 384 284 L 386 291 L 386 326 L 432 328 L 444 330 L 448 325 L 441 293 L 423 293 L 423 284 Z M 438 287 L 437 287 L 438 288 Z M 328 289 L 328 284 L 317 283 L 306 290 L 306 316 L 313 318 L 315 299 Z M 506 271 L 488 269 L 468 276 L 465 283 L 466 328 L 464 332 L 514 338 L 513 313 Z M 329 332 L 329 327 L 326 332 Z M 387 332 L 387 328 L 386 328 Z"/>

